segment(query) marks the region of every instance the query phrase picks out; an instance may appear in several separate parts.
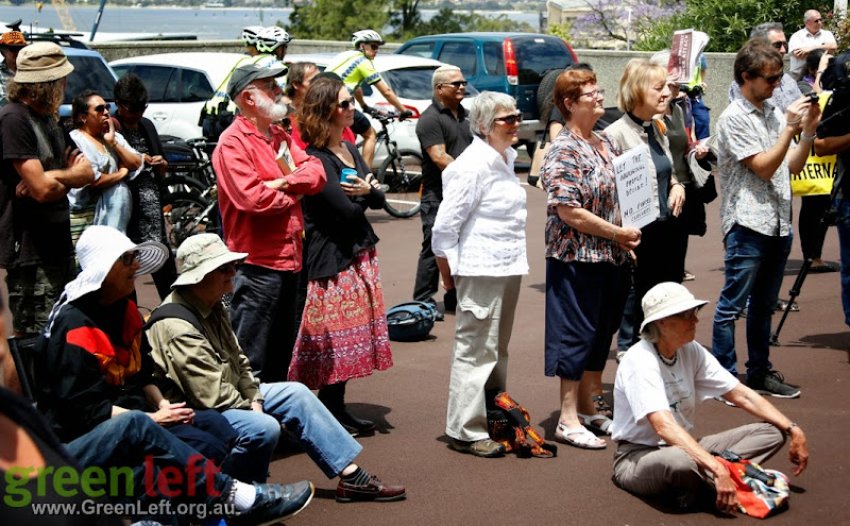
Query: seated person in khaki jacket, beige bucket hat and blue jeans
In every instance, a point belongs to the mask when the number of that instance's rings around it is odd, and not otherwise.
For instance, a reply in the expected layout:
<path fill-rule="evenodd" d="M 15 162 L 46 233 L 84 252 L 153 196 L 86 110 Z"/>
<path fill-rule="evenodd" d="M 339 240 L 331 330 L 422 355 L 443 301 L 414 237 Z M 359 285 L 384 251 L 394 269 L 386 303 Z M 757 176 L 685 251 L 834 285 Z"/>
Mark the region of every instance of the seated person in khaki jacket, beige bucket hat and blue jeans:
<path fill-rule="evenodd" d="M 247 255 L 230 252 L 215 234 L 192 236 L 177 249 L 180 276 L 147 331 L 161 388 L 189 407 L 222 411 L 239 435 L 231 455 L 247 480 L 265 480 L 284 425 L 328 478 L 340 477 L 338 501 L 403 499 L 404 487 L 385 486 L 353 464 L 362 447 L 306 386 L 254 378 L 221 303 Z M 173 305 L 182 313 L 158 318 Z"/>

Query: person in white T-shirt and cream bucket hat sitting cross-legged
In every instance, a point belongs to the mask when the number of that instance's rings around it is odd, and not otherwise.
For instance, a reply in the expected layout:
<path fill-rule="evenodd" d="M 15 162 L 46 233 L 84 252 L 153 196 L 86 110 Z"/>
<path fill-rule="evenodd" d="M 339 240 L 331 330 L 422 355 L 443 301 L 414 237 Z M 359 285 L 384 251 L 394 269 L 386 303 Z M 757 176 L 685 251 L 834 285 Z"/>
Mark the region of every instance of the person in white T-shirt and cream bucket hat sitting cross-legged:
<path fill-rule="evenodd" d="M 708 302 L 683 285 L 663 282 L 641 302 L 641 339 L 617 369 L 614 483 L 641 497 L 692 510 L 713 499 L 721 512 L 737 509 L 735 483 L 714 452 L 730 450 L 762 463 L 790 438 L 794 474 L 806 469 L 806 435 L 760 394 L 724 369 L 694 340 L 698 312 Z M 760 423 L 699 440 L 691 435 L 698 402 L 723 397 Z"/>

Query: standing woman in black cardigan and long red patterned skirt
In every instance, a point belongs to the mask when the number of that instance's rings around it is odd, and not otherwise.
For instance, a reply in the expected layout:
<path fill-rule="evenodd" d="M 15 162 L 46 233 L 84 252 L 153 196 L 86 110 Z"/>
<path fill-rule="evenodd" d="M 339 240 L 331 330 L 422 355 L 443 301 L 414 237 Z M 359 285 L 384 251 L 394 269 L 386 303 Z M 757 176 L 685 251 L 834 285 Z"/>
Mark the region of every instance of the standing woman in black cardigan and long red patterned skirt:
<path fill-rule="evenodd" d="M 378 270 L 378 236 L 366 209 L 380 209 L 384 194 L 357 152 L 342 140 L 351 125 L 354 98 L 342 81 L 314 80 L 301 108 L 307 153 L 322 161 L 327 184 L 306 196 L 304 265 L 307 302 L 289 367 L 289 380 L 319 390 L 319 399 L 350 433 L 375 423 L 351 414 L 349 380 L 393 365 Z"/>

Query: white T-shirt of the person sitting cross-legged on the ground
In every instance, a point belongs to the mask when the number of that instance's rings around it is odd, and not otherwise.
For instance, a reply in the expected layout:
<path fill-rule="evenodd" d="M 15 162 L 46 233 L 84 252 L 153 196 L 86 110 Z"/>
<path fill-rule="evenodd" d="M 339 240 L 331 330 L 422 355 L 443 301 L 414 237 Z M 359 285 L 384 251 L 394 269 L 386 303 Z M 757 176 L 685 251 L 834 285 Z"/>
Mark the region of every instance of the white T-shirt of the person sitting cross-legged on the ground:
<path fill-rule="evenodd" d="M 662 446 L 647 415 L 670 411 L 690 431 L 697 402 L 722 396 L 740 383 L 695 341 L 680 347 L 677 356 L 674 365 L 662 363 L 655 346 L 643 339 L 629 349 L 614 380 L 612 439 Z"/>

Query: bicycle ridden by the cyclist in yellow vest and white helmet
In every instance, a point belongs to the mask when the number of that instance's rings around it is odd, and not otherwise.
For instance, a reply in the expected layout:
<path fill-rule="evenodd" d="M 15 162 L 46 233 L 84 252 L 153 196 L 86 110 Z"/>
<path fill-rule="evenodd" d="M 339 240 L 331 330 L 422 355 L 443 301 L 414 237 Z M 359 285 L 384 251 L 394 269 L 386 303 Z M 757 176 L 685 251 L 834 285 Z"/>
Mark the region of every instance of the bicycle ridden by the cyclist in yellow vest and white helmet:
<path fill-rule="evenodd" d="M 400 150 L 390 138 L 388 125 L 401 120 L 398 115 L 372 111 L 372 117 L 381 123 L 378 143 L 387 149 L 387 158 L 375 172 L 375 178 L 386 189 L 384 210 L 393 217 L 413 217 L 422 206 L 422 155 Z"/>

